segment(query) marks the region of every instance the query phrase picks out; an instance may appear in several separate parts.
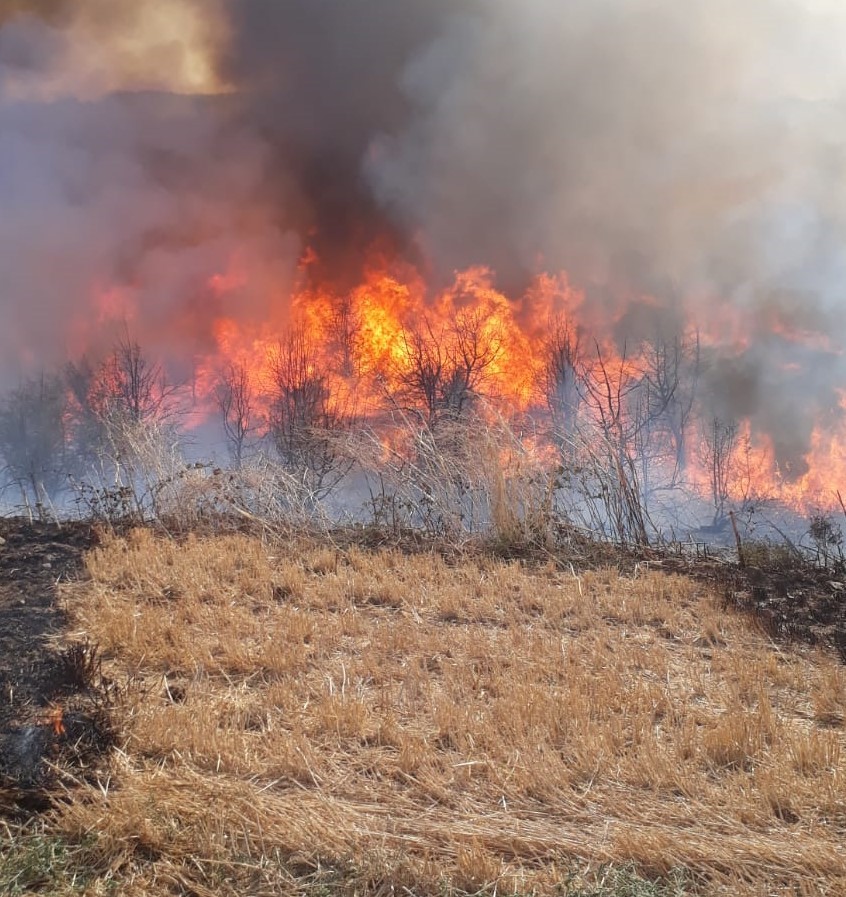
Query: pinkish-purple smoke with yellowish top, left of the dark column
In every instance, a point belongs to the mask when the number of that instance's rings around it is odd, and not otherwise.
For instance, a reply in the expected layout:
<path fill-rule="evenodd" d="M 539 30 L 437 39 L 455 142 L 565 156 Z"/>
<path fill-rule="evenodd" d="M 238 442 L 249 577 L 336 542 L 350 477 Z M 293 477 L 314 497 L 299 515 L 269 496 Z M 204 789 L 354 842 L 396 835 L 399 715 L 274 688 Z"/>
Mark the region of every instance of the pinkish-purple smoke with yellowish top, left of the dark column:
<path fill-rule="evenodd" d="M 299 237 L 265 199 L 268 146 L 215 71 L 215 11 L 56 0 L 0 12 L 5 382 L 96 353 L 126 325 L 190 367 L 216 315 L 264 318 L 290 286 Z M 233 263 L 255 274 L 220 307 L 209 280 Z"/>

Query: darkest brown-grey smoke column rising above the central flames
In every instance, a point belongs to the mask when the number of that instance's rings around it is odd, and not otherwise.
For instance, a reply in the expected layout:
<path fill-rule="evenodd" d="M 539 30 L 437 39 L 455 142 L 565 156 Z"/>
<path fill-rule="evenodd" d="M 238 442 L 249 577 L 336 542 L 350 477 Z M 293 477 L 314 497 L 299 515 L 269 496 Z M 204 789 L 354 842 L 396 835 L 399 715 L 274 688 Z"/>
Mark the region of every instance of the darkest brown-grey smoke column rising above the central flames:
<path fill-rule="evenodd" d="M 361 274 L 374 241 L 416 260 L 413 226 L 392 222 L 363 163 L 378 135 L 416 113 L 404 72 L 466 0 L 230 0 L 221 75 L 242 114 L 273 147 L 280 205 L 294 214 L 343 288 Z M 295 193 L 292 193 L 292 185 Z"/>

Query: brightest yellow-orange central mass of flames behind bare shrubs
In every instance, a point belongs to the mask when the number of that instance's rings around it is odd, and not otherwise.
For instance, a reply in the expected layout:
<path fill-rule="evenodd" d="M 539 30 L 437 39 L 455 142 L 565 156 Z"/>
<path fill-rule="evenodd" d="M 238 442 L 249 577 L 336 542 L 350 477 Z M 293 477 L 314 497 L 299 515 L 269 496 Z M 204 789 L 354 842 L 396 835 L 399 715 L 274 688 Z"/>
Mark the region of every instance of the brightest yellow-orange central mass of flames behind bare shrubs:
<path fill-rule="evenodd" d="M 539 401 L 544 331 L 533 321 L 557 313 L 562 297 L 572 300 L 574 294 L 560 279 L 539 278 L 514 302 L 494 287 L 492 271 L 473 268 L 458 272 L 451 285 L 430 295 L 418 272 L 379 262 L 384 260 L 374 260 L 362 282 L 346 294 L 308 285 L 290 299 L 291 326 L 304 330 L 318 347 L 325 372 L 336 382 L 355 380 L 359 400 L 374 407 L 385 388 L 399 389 L 414 364 L 415 339 L 423 334 L 445 355 L 475 351 L 477 362 L 484 364 L 485 392 L 504 405 L 527 410 Z M 230 274 L 210 281 L 218 295 L 241 285 Z M 227 316 L 216 318 L 212 331 L 216 352 L 200 363 L 203 389 L 208 390 L 221 365 L 246 360 L 250 382 L 261 390 L 271 379 L 281 330 L 268 332 L 264 323 L 251 327 Z M 462 333 L 474 340 L 472 348 L 456 345 Z"/>

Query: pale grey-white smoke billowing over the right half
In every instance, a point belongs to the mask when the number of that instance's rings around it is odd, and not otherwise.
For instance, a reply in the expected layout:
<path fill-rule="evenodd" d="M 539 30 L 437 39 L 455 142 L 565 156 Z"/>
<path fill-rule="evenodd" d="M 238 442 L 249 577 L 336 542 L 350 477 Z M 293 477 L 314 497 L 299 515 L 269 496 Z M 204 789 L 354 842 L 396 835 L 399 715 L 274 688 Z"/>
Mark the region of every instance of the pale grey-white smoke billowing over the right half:
<path fill-rule="evenodd" d="M 681 304 L 714 413 L 799 472 L 844 382 L 844 39 L 834 2 L 491 0 L 409 63 L 365 168 L 440 269 Z"/>

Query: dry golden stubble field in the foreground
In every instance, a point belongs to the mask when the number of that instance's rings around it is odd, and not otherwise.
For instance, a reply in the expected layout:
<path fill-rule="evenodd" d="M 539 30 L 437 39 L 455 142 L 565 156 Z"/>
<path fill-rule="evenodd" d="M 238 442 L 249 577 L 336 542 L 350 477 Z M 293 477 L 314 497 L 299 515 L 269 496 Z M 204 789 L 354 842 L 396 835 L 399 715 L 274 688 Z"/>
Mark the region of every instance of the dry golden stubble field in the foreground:
<path fill-rule="evenodd" d="M 846 673 L 702 584 L 147 530 L 87 572 L 121 748 L 21 893 L 846 893 Z"/>

